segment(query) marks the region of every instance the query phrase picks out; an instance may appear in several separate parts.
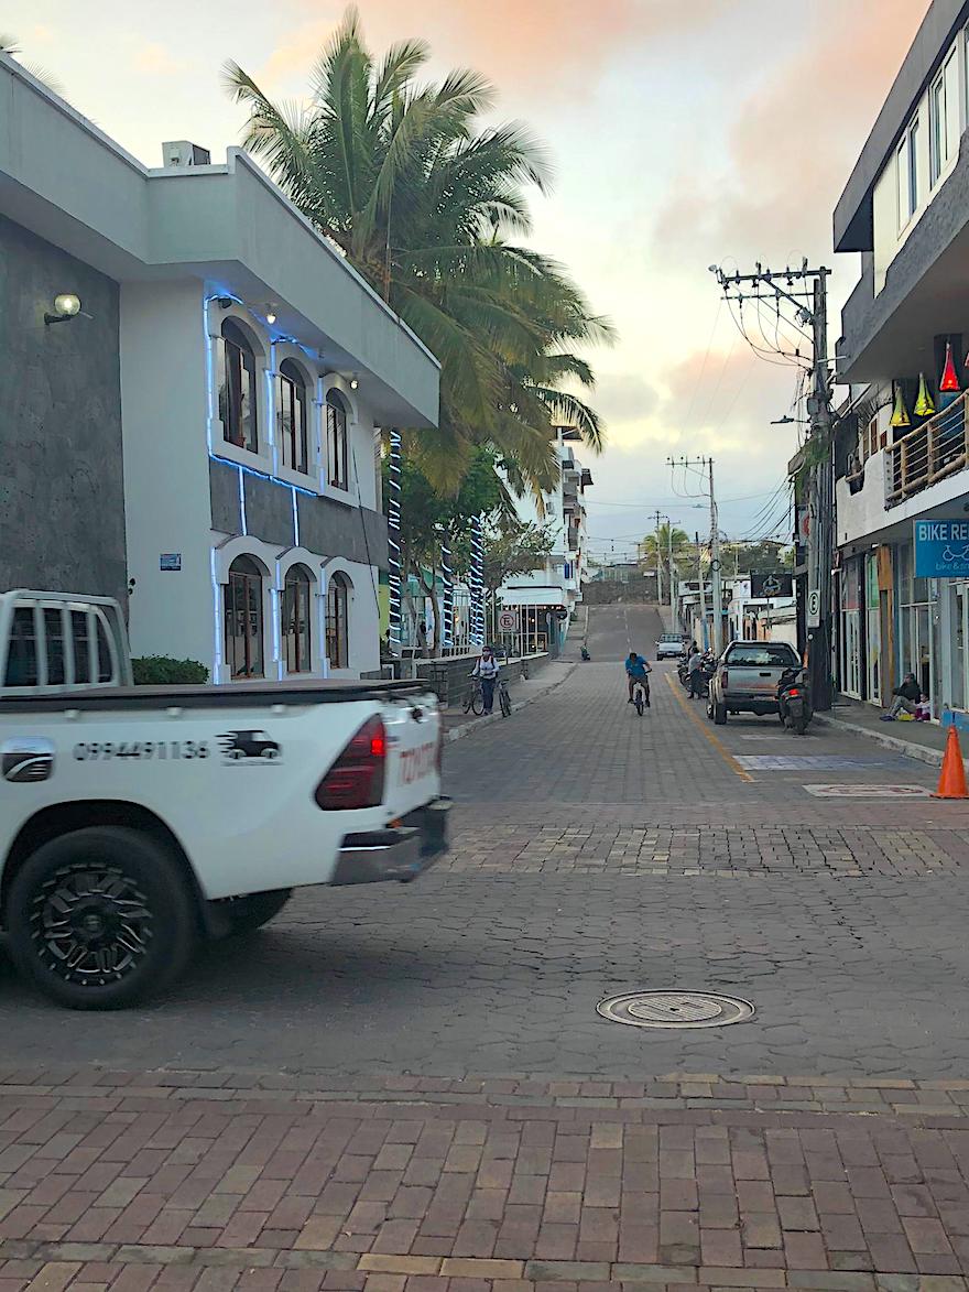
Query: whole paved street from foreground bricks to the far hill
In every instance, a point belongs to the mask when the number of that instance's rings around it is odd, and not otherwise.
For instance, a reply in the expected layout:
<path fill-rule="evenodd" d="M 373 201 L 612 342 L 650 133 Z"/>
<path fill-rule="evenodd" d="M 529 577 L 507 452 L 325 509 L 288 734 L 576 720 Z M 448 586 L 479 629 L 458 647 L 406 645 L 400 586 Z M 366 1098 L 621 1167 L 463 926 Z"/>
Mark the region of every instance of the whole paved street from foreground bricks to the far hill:
<path fill-rule="evenodd" d="M 125 1013 L 0 961 L 0 1292 L 965 1286 L 966 806 L 672 665 L 640 720 L 659 630 L 593 609 L 592 663 L 448 747 L 419 884 L 297 894 Z M 597 1016 L 642 988 L 756 1013 Z"/>

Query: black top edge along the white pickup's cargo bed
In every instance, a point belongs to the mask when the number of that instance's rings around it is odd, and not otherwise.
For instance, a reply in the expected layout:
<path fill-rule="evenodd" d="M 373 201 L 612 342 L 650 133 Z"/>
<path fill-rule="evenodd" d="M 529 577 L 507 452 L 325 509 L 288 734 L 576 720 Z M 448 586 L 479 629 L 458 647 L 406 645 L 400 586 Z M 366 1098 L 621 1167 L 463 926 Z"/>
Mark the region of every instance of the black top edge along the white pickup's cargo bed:
<path fill-rule="evenodd" d="M 267 704 L 340 704 L 348 700 L 404 699 L 426 695 L 429 682 L 305 681 L 233 682 L 230 686 L 114 686 L 44 694 L 0 695 L 4 713 L 39 713 L 63 709 L 222 709 L 265 708 Z"/>

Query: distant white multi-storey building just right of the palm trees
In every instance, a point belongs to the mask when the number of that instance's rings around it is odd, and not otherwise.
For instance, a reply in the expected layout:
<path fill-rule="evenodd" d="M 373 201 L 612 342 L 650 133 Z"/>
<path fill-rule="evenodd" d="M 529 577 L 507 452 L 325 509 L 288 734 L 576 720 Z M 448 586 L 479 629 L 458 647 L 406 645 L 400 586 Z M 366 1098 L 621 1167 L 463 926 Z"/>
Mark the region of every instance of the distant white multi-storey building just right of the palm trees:
<path fill-rule="evenodd" d="M 554 547 L 543 568 L 509 579 L 499 592 L 501 605 L 516 614 L 516 632 L 526 646 L 553 652 L 561 649 L 575 607 L 583 599 L 588 572 L 585 490 L 593 482 L 592 472 L 575 456 L 574 446 L 581 443 L 579 432 L 558 426 L 556 439 L 562 470 L 558 484 L 544 497 L 545 514 L 539 516 L 534 499 L 518 504 L 523 521 L 552 528 Z"/>

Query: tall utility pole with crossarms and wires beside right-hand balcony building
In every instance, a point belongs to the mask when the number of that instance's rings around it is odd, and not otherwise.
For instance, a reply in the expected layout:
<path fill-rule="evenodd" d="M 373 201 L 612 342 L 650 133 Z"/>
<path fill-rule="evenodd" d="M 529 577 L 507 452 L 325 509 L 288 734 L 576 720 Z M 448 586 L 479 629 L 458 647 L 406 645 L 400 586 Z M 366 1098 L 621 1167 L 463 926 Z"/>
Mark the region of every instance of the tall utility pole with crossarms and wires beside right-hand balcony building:
<path fill-rule="evenodd" d="M 828 278 L 831 270 L 823 265 L 810 269 L 804 260 L 798 269 L 770 270 L 757 265 L 753 274 L 725 274 L 716 265 L 712 273 L 724 288 L 727 301 L 770 301 L 780 318 L 780 302 L 787 301 L 796 311 L 797 327 L 810 327 L 811 340 L 811 393 L 808 397 L 810 441 L 822 448 L 818 465 L 813 468 L 809 484 L 808 535 L 808 598 L 806 640 L 801 643 L 808 654 L 811 694 L 815 709 L 829 709 L 832 702 L 831 655 L 832 615 L 831 567 L 833 565 L 835 496 L 833 496 L 833 443 L 831 435 L 831 373 L 828 371 Z M 800 351 L 795 351 L 800 358 Z"/>

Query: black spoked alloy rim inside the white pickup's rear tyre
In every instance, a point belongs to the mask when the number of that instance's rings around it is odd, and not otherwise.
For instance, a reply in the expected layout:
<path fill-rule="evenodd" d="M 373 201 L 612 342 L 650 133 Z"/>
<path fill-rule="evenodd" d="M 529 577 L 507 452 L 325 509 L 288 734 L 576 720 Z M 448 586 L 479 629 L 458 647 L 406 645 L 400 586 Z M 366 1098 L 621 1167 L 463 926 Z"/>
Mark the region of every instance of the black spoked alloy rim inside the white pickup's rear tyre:
<path fill-rule="evenodd" d="M 47 970 L 74 986 L 105 987 L 142 964 L 155 917 L 120 867 L 85 862 L 62 867 L 37 888 L 30 924 Z"/>

